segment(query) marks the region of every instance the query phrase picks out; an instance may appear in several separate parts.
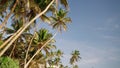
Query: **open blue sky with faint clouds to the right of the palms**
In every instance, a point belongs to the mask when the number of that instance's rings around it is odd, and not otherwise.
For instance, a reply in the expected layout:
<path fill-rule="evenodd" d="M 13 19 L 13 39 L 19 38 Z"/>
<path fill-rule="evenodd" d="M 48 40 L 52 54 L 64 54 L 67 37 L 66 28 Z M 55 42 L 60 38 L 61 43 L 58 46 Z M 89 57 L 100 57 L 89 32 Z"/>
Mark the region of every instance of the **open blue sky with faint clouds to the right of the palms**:
<path fill-rule="evenodd" d="M 80 68 L 120 68 L 120 0 L 69 0 L 72 23 L 56 36 L 64 64 L 77 49 Z"/>

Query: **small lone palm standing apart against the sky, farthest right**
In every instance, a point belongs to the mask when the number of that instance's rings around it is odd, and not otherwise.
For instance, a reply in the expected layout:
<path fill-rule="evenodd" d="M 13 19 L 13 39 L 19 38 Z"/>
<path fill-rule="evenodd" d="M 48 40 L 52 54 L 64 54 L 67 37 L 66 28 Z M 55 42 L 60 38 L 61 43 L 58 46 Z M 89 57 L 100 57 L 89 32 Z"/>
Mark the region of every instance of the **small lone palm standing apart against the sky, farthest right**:
<path fill-rule="evenodd" d="M 75 50 L 72 52 L 72 57 L 70 58 L 70 64 L 74 65 L 74 63 L 78 62 L 79 59 L 81 59 L 80 57 L 80 53 L 78 50 Z"/>

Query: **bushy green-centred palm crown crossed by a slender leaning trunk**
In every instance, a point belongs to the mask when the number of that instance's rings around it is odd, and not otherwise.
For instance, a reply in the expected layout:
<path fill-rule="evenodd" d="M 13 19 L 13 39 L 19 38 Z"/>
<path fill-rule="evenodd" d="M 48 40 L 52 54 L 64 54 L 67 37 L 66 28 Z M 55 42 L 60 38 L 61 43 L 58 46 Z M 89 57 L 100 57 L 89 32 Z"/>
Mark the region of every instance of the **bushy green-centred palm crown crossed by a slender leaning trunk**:
<path fill-rule="evenodd" d="M 37 49 L 41 48 L 43 44 L 45 44 L 51 37 L 52 34 L 49 33 L 47 29 L 41 28 L 38 32 L 36 32 L 35 38 L 33 40 L 35 44 L 34 46 L 36 46 Z M 53 45 L 54 42 L 55 40 L 52 39 L 42 50 L 48 54 L 51 49 L 56 48 L 55 45 Z"/>

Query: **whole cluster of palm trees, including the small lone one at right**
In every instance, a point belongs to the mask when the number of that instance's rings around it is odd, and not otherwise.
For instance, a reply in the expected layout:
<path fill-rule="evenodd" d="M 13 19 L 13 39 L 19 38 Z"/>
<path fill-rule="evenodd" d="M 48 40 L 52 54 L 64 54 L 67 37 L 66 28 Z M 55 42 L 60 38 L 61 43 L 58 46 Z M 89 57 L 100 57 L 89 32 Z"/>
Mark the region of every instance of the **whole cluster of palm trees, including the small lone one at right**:
<path fill-rule="evenodd" d="M 65 68 L 61 63 L 63 52 L 54 45 L 54 37 L 67 30 L 71 22 L 68 10 L 67 0 L 0 0 L 0 58 L 17 59 L 20 68 L 39 68 L 40 64 Z M 56 29 L 56 33 L 38 30 L 38 19 Z M 72 52 L 73 68 L 77 68 L 75 63 L 80 58 L 79 51 Z"/>

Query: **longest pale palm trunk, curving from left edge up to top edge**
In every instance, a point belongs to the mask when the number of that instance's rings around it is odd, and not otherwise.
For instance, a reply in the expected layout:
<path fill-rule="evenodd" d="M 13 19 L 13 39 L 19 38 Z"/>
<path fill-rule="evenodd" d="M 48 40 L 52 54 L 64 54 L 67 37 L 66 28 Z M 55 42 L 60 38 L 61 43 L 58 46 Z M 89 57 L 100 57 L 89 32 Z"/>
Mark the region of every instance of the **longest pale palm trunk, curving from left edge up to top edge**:
<path fill-rule="evenodd" d="M 28 27 L 30 26 L 30 24 L 32 24 L 38 17 L 40 17 L 41 15 L 43 15 L 48 9 L 49 7 L 53 4 L 54 0 L 51 1 L 51 3 L 46 7 L 46 9 L 39 13 L 37 16 L 35 16 L 29 23 L 27 23 L 23 29 L 10 41 L 10 43 L 0 52 L 0 56 L 2 56 L 4 54 L 4 52 L 11 46 L 11 44 L 22 34 L 22 32 Z M 21 28 L 20 28 L 21 29 Z M 19 31 L 19 30 L 18 30 Z M 11 38 L 11 37 L 10 37 Z"/>

